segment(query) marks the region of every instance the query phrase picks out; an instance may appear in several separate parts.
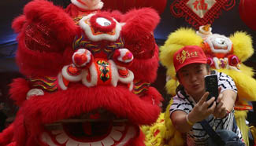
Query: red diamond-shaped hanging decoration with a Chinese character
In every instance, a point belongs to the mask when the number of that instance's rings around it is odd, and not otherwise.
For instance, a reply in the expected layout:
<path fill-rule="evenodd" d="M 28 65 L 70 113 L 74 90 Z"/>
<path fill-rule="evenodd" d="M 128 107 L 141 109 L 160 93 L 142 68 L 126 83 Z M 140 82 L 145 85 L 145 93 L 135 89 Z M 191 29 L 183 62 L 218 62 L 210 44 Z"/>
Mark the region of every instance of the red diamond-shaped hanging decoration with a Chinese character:
<path fill-rule="evenodd" d="M 253 0 L 252 0 L 253 1 Z M 193 27 L 212 24 L 221 15 L 236 5 L 236 0 L 174 0 L 171 13 L 175 17 L 184 17 Z"/>

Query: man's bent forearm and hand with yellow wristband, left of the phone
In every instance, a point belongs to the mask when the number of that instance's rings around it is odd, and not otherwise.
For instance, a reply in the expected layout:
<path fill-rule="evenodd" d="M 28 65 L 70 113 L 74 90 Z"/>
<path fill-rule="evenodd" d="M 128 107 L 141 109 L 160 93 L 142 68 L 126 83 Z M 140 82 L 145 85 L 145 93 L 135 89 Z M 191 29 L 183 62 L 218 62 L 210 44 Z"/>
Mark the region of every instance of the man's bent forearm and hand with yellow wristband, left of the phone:
<path fill-rule="evenodd" d="M 214 102 L 214 98 L 206 101 L 208 94 L 208 92 L 205 93 L 188 114 L 184 111 L 173 111 L 171 119 L 176 130 L 180 131 L 181 133 L 186 133 L 191 130 L 195 122 L 202 121 L 202 119 L 206 119 L 210 114 L 213 113 L 216 103 Z M 209 108 L 210 104 L 212 103 L 213 105 Z"/>

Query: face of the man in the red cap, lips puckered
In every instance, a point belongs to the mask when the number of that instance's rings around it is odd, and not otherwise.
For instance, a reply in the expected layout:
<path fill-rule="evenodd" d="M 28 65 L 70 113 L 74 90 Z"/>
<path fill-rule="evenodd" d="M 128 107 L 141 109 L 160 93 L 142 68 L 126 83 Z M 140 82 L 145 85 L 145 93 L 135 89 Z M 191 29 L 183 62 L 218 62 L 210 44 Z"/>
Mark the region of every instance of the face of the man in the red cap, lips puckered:
<path fill-rule="evenodd" d="M 202 97 L 205 93 L 205 76 L 210 75 L 206 64 L 188 64 L 178 71 L 180 84 L 192 97 Z"/>

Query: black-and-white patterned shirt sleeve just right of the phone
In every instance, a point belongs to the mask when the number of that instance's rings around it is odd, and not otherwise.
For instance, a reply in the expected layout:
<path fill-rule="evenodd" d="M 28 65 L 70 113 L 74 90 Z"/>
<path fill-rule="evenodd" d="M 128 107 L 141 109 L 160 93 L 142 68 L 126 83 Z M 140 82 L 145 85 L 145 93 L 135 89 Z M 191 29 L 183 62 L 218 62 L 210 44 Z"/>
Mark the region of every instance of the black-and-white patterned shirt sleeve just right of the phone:
<path fill-rule="evenodd" d="M 221 93 L 226 89 L 232 89 L 237 93 L 236 84 L 231 77 L 224 74 L 223 72 L 218 72 L 218 78 L 218 86 L 221 86 Z"/>

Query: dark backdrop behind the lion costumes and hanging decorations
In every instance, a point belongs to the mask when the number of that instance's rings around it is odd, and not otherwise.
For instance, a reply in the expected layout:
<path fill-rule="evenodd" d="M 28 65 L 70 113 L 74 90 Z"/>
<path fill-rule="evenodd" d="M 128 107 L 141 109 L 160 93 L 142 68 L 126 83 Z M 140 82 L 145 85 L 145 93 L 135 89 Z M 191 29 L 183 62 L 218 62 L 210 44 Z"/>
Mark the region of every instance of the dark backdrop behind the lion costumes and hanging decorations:
<path fill-rule="evenodd" d="M 17 49 L 17 42 L 15 41 L 16 34 L 11 29 L 11 23 L 13 19 L 22 13 L 23 7 L 30 0 L 2 0 L 0 1 L 0 87 L 2 96 L 1 102 L 11 103 L 8 100 L 8 84 L 13 78 L 20 77 L 17 65 L 15 63 L 15 51 Z M 65 7 L 69 5 L 69 0 L 51 0 L 56 5 Z M 159 46 L 163 45 L 168 35 L 175 31 L 179 27 L 192 27 L 184 20 L 184 18 L 176 18 L 170 13 L 170 5 L 173 0 L 168 0 L 165 7 L 165 12 L 161 13 L 161 22 L 154 31 L 155 39 Z M 256 19 L 256 18 L 251 18 Z M 215 19 L 213 24 L 213 33 L 219 33 L 221 35 L 232 35 L 235 31 L 247 31 L 252 36 L 254 42 L 256 42 L 256 31 L 251 30 L 239 17 L 239 0 L 236 0 L 236 5 L 229 11 L 222 10 L 221 16 Z M 245 62 L 250 67 L 256 68 L 256 54 L 250 57 Z M 168 104 L 170 96 L 165 93 L 165 68 L 159 64 L 158 78 L 154 85 L 159 92 L 165 98 L 164 108 Z M 250 114 L 252 111 L 250 112 Z M 249 115 L 250 115 L 249 114 Z M 248 116 L 249 120 L 254 117 L 253 115 Z"/>

